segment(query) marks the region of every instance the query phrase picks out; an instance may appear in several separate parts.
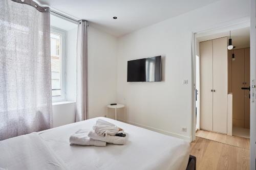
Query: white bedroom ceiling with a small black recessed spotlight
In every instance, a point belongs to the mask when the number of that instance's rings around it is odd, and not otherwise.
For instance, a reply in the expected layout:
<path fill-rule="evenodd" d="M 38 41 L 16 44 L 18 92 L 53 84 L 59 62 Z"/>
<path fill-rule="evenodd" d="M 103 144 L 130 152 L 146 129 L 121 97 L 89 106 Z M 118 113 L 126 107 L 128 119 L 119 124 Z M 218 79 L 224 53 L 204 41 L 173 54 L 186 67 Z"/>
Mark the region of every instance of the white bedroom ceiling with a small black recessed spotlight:
<path fill-rule="evenodd" d="M 218 0 L 37 0 L 114 36 L 122 36 Z M 113 19 L 116 16 L 118 19 Z"/>

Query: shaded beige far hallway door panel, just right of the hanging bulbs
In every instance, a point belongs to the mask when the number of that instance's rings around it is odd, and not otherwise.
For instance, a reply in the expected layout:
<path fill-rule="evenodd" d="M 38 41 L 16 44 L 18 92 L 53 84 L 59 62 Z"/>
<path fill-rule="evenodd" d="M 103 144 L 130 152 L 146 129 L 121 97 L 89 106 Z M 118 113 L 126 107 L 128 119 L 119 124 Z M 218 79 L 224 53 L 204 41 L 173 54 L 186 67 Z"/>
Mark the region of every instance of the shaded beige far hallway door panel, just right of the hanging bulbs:
<path fill-rule="evenodd" d="M 234 50 L 232 61 L 233 126 L 244 128 L 244 49 Z"/>

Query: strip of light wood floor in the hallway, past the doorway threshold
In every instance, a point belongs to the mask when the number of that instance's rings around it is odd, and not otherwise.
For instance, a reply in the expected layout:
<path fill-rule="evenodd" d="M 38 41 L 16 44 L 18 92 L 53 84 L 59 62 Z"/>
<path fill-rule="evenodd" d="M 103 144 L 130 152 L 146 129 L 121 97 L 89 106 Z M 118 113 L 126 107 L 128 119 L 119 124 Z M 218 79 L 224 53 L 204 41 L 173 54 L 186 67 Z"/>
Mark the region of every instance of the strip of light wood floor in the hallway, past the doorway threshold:
<path fill-rule="evenodd" d="M 229 144 L 234 147 L 243 149 L 250 149 L 250 139 L 239 136 L 229 136 L 221 133 L 210 132 L 205 130 L 198 130 L 196 133 L 197 137 L 218 141 L 221 143 Z"/>

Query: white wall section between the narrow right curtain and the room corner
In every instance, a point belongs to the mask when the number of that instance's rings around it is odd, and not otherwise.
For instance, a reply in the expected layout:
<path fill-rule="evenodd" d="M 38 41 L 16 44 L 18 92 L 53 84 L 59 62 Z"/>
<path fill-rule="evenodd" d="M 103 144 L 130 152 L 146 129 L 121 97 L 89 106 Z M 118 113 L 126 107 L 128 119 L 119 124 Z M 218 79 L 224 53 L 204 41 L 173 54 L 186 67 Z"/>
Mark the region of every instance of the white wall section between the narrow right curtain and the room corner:
<path fill-rule="evenodd" d="M 89 118 L 104 116 L 116 102 L 117 39 L 89 26 L 88 63 Z"/>

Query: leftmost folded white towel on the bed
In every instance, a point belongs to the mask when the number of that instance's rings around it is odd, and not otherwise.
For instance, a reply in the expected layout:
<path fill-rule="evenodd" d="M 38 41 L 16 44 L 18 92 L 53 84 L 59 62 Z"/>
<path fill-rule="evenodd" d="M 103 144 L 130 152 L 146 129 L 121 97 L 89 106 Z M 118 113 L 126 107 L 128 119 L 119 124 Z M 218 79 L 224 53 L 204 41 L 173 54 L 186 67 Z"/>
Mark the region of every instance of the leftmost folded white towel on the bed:
<path fill-rule="evenodd" d="M 90 130 L 88 129 L 79 129 L 75 134 L 71 135 L 69 138 L 69 142 L 73 144 L 78 144 L 78 145 L 94 145 L 97 147 L 105 147 L 106 142 L 105 141 L 100 141 L 100 140 L 94 140 L 90 139 L 88 136 Z"/>

